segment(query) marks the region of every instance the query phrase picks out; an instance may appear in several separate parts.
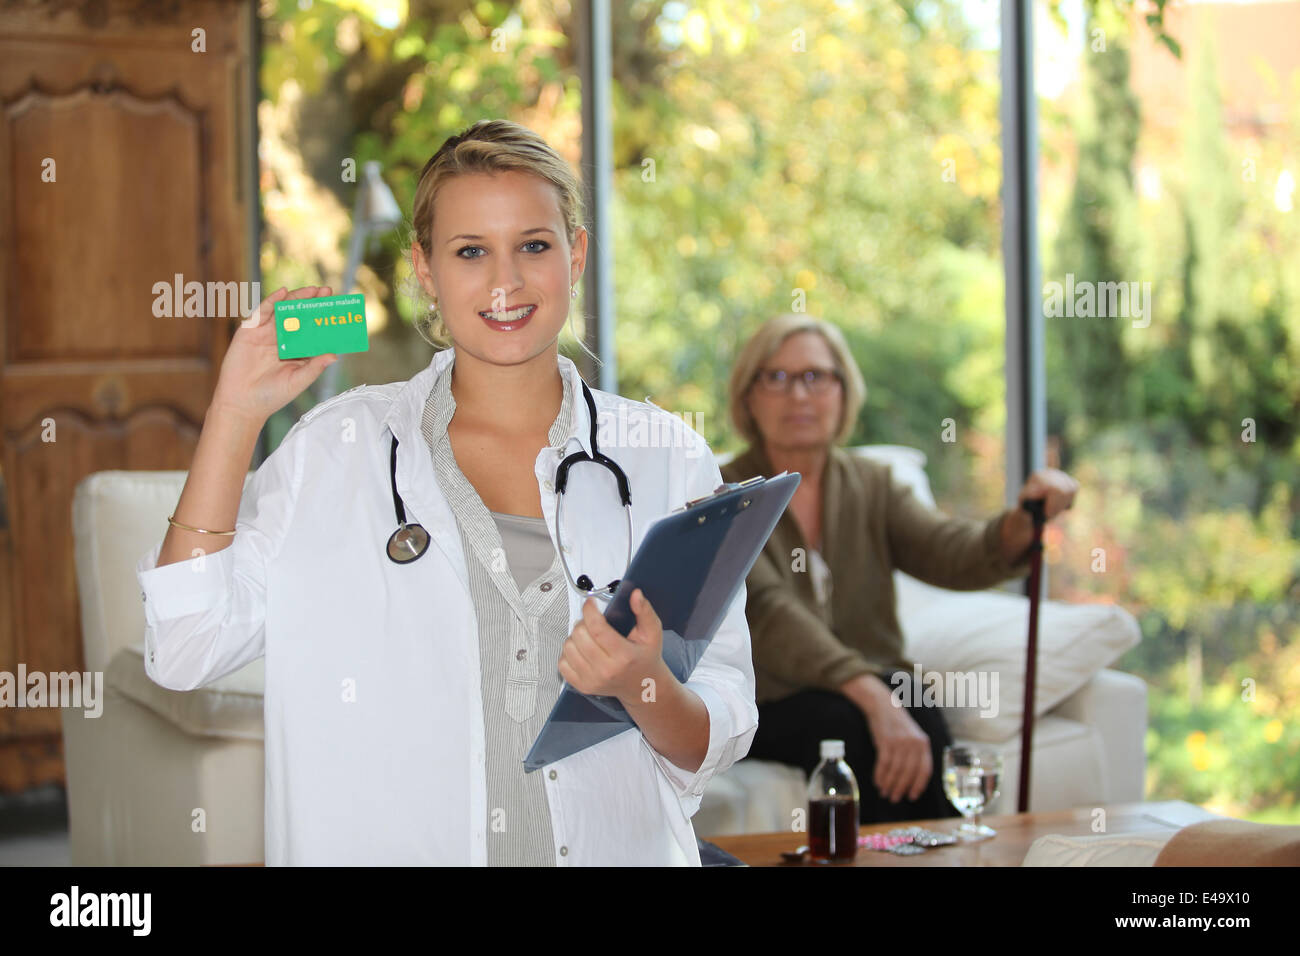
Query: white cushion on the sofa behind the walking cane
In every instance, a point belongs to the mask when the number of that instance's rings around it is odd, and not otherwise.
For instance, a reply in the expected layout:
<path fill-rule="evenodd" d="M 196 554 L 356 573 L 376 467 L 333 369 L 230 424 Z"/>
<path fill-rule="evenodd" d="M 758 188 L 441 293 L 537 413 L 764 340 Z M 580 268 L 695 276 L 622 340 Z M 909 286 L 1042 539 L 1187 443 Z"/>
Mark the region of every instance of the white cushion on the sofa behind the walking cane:
<path fill-rule="evenodd" d="M 894 574 L 898 622 L 907 657 L 922 670 L 983 675 L 996 702 L 988 708 L 945 708 L 953 736 L 1000 743 L 1020 730 L 1028 598 L 1000 591 L 953 592 Z M 1115 605 L 1039 606 L 1039 665 L 1034 696 L 1036 717 L 1050 711 L 1141 633 L 1128 611 Z"/>

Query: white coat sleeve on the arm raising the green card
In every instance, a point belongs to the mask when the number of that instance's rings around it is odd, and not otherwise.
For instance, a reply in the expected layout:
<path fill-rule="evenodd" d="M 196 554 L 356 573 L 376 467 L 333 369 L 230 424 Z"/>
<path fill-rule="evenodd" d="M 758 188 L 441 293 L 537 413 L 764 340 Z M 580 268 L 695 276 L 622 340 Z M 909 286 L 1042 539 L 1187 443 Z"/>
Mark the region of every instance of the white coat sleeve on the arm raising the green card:
<path fill-rule="evenodd" d="M 136 563 L 144 670 L 156 684 L 192 691 L 265 653 L 266 572 L 302 488 L 302 425 L 247 480 L 229 548 L 157 567 L 159 541 Z"/>

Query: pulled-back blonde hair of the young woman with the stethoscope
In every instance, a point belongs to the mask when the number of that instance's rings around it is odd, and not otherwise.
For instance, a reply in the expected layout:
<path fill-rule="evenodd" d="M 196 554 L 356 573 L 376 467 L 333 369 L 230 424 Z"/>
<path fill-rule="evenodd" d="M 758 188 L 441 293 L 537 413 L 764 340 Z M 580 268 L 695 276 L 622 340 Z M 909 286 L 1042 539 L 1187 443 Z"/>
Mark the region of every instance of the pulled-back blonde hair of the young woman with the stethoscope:
<path fill-rule="evenodd" d="M 415 190 L 413 245 L 419 246 L 425 261 L 433 246 L 434 199 L 447 182 L 465 173 L 503 173 L 520 170 L 546 179 L 555 187 L 560 216 L 569 246 L 577 241 L 582 225 L 582 186 L 569 164 L 551 146 L 526 126 L 510 120 L 480 120 L 468 129 L 448 137 L 429 157 L 420 172 Z M 436 349 L 451 345 L 451 334 L 441 311 L 430 311 L 434 304 L 412 273 L 408 291 L 416 303 L 415 326 L 420 337 Z M 572 316 L 571 316 L 572 317 Z M 584 346 L 584 350 L 586 346 Z"/>

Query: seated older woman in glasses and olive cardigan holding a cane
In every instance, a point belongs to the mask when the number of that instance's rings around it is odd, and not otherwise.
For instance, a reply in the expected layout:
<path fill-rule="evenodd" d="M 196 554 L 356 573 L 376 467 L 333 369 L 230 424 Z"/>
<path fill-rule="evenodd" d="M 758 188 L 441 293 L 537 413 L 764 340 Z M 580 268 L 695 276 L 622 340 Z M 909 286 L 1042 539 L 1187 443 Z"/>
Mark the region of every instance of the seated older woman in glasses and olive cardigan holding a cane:
<path fill-rule="evenodd" d="M 818 743 L 840 739 L 863 823 L 956 816 L 935 771 L 952 743 L 942 713 L 924 705 L 922 688 L 907 698 L 914 706 L 893 702 L 913 670 L 893 571 L 942 588 L 988 588 L 1027 571 L 1034 527 L 1023 509 L 988 520 L 936 512 L 889 466 L 837 447 L 864 394 L 844 337 L 807 315 L 768 321 L 732 371 L 731 416 L 750 447 L 723 477 L 803 476 L 746 579 L 759 713 L 749 756 L 811 773 Z M 1044 498 L 1052 518 L 1076 489 L 1046 468 L 1019 499 Z"/>

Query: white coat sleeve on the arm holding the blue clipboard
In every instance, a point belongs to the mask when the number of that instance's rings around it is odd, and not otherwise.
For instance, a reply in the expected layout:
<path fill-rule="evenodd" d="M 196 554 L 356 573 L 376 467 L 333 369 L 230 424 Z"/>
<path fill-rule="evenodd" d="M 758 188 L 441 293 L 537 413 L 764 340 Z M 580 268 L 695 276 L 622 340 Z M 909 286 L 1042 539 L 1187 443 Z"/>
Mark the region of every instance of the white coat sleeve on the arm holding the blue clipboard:
<path fill-rule="evenodd" d="M 698 438 L 698 436 L 696 436 Z M 686 497 L 711 494 L 723 484 L 712 453 L 698 438 L 702 454 L 686 457 Z M 694 449 L 693 449 L 694 451 Z M 723 615 L 718 633 L 696 663 L 685 683 L 708 710 L 708 750 L 696 771 L 679 767 L 650 747 L 655 761 L 672 783 L 688 817 L 699 809 L 699 801 L 714 774 L 724 773 L 749 753 L 758 730 L 758 706 L 754 702 L 754 658 L 745 620 L 745 585 L 741 584 Z M 642 737 L 642 740 L 645 740 Z"/>

